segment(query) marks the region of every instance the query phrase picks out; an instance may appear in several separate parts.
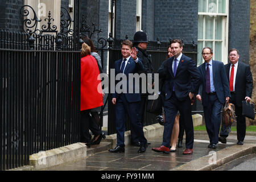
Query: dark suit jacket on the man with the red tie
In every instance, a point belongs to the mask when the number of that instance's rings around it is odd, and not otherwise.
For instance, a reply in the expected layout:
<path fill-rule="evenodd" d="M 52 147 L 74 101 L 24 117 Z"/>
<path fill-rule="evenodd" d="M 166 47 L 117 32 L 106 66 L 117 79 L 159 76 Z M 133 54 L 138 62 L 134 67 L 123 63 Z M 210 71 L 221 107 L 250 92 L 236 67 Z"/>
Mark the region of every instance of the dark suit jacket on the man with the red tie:
<path fill-rule="evenodd" d="M 229 81 L 229 69 L 230 63 L 225 65 L 226 76 Z M 242 101 L 245 97 L 251 98 L 251 93 L 253 92 L 253 76 L 251 75 L 251 69 L 248 64 L 238 61 L 237 75 L 235 82 L 236 91 L 236 102 L 237 106 L 242 106 Z"/>

